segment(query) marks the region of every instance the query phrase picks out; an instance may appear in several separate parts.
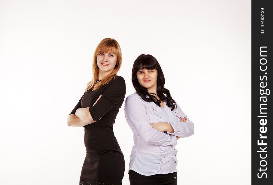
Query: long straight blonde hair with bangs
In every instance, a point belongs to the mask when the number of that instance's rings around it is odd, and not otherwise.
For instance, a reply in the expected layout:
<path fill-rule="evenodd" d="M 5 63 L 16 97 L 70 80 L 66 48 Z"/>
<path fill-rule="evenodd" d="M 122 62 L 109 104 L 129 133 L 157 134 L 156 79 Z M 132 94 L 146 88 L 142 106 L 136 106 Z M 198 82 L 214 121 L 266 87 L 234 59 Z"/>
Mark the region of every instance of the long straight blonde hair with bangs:
<path fill-rule="evenodd" d="M 114 70 L 106 76 L 104 79 L 102 79 L 100 82 L 97 82 L 96 85 L 93 88 L 93 91 L 97 90 L 104 84 L 108 84 L 113 78 L 115 79 L 117 76 L 117 73 L 119 69 L 121 68 L 122 64 L 122 54 L 121 54 L 121 49 L 118 44 L 118 42 L 115 39 L 110 39 L 110 38 L 105 38 L 103 39 L 98 45 L 97 48 L 95 49 L 94 56 L 93 56 L 93 79 L 87 83 L 87 87 L 85 89 L 85 92 L 91 89 L 94 85 L 94 83 L 98 80 L 99 78 L 99 67 L 97 66 L 97 55 L 100 53 L 104 52 L 110 52 L 114 53 L 117 55 L 117 64 L 114 67 Z"/>

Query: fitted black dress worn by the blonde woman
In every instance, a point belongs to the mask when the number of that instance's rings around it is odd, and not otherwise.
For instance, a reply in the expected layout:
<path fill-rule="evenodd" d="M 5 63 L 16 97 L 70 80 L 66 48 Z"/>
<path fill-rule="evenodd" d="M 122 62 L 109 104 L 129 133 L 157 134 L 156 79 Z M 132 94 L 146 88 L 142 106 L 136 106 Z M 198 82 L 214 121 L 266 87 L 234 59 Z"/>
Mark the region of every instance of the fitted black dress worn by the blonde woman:
<path fill-rule="evenodd" d="M 81 171 L 80 185 L 120 185 L 123 179 L 124 156 L 114 136 L 113 124 L 126 93 L 121 76 L 96 91 L 83 94 L 71 114 L 79 108 L 91 107 L 94 122 L 85 126 L 86 157 Z M 97 98 L 101 99 L 93 106 Z"/>

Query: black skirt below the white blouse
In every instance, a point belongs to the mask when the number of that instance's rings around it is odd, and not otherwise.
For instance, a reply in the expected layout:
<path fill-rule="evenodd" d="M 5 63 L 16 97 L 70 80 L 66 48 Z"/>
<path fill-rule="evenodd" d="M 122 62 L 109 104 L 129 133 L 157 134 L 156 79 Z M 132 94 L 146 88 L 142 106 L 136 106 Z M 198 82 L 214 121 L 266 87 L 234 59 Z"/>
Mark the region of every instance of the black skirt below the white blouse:
<path fill-rule="evenodd" d="M 177 172 L 146 176 L 129 170 L 128 174 L 130 185 L 177 185 Z"/>

